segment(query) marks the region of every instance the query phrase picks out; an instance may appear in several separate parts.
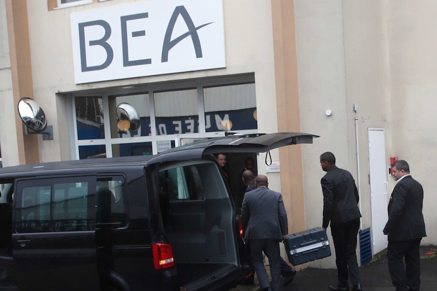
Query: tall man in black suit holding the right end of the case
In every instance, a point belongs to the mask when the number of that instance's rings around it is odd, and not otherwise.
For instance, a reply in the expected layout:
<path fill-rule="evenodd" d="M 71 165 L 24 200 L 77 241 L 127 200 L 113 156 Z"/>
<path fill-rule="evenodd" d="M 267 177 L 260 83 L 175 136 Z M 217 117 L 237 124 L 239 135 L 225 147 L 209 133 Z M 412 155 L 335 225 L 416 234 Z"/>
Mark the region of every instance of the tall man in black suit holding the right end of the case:
<path fill-rule="evenodd" d="M 338 284 L 330 290 L 348 291 L 348 278 L 352 290 L 362 290 L 356 259 L 356 240 L 361 214 L 358 209 L 358 190 L 352 175 L 335 165 L 332 152 L 320 156 L 320 165 L 326 174 L 320 183 L 323 191 L 323 223 L 326 229 L 331 222 L 334 240 Z"/>

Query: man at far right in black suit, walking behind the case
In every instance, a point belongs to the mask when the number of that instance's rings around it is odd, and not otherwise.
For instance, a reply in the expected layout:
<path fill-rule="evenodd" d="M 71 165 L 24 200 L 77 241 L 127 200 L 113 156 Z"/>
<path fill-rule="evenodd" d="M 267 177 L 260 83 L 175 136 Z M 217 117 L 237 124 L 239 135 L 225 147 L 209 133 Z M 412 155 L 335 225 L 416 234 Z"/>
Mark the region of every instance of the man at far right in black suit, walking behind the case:
<path fill-rule="evenodd" d="M 390 196 L 388 221 L 383 230 L 388 235 L 388 271 L 397 291 L 418 291 L 419 245 L 426 236 L 422 215 L 423 188 L 411 177 L 405 160 L 394 163 L 391 175 L 397 183 Z"/>

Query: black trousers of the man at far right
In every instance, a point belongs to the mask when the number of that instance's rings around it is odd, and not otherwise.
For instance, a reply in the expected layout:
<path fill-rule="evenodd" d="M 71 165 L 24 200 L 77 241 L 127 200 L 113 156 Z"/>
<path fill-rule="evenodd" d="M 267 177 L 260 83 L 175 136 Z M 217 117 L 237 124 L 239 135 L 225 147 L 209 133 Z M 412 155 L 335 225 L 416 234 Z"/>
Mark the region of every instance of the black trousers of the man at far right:
<path fill-rule="evenodd" d="M 419 245 L 422 238 L 389 241 L 388 271 L 396 290 L 418 290 L 420 286 Z M 405 258 L 405 267 L 402 259 Z"/>

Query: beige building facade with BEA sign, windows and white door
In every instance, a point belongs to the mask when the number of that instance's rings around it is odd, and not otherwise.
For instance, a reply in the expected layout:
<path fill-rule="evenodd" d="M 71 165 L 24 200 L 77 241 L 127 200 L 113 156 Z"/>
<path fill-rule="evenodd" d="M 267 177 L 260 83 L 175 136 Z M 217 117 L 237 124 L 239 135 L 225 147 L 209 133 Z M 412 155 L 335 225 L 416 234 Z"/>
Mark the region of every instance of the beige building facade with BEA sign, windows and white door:
<path fill-rule="evenodd" d="M 372 254 L 386 247 L 390 157 L 423 185 L 422 243 L 437 243 L 425 155 L 437 143 L 434 1 L 193 1 L 0 0 L 3 167 L 156 154 L 226 130 L 311 133 L 320 136 L 311 145 L 271 152 L 276 170 L 256 156 L 283 195 L 289 232 L 321 226 L 319 156 L 332 151 L 357 182 L 368 235 L 359 240 Z M 44 109 L 52 140 L 26 134 L 23 97 Z M 140 130 L 117 129 L 122 102 L 137 109 Z M 310 266 L 335 267 L 335 256 Z"/>

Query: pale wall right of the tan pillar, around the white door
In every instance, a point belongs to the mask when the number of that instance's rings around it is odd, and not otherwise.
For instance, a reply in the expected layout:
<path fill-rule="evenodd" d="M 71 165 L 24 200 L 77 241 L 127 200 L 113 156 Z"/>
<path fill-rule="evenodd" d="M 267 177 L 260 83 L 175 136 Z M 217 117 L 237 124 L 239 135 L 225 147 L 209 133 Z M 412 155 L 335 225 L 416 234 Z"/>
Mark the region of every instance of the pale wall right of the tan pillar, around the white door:
<path fill-rule="evenodd" d="M 425 191 L 428 237 L 422 243 L 437 242 L 432 158 L 427 154 L 437 142 L 432 112 L 437 105 L 435 8 L 433 1 L 295 1 L 301 131 L 321 136 L 303 147 L 307 228 L 321 226 L 319 181 L 324 172 L 318 157 L 324 151 L 336 154 L 337 165 L 360 179 L 362 229 L 372 226 L 368 129 L 383 128 L 386 168 L 390 156 L 410 163 Z M 387 180 L 391 193 L 395 182 L 388 171 Z M 310 265 L 332 267 L 334 260 Z"/>

